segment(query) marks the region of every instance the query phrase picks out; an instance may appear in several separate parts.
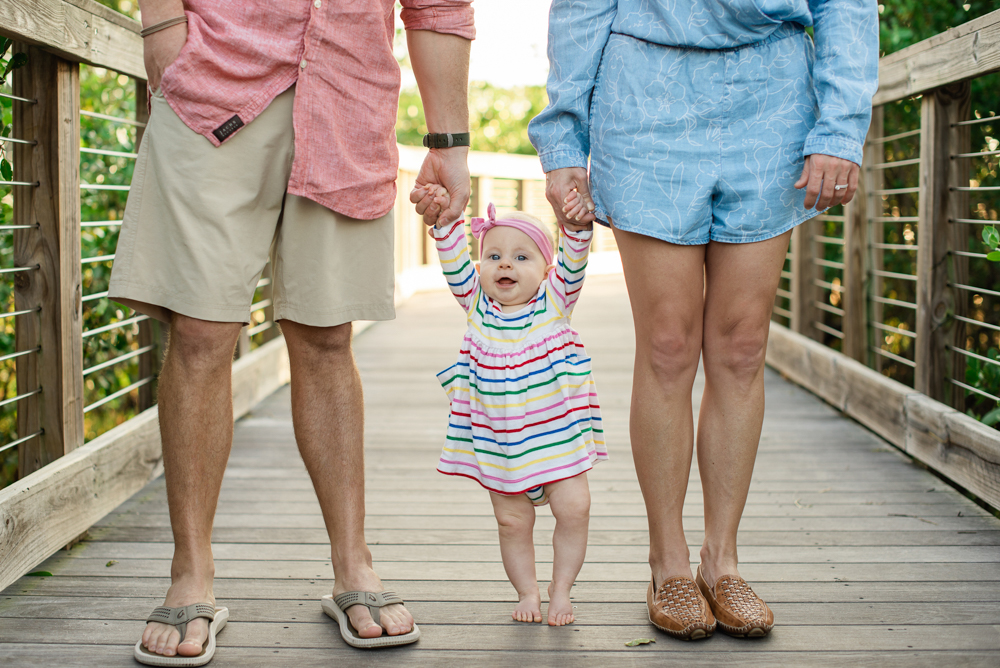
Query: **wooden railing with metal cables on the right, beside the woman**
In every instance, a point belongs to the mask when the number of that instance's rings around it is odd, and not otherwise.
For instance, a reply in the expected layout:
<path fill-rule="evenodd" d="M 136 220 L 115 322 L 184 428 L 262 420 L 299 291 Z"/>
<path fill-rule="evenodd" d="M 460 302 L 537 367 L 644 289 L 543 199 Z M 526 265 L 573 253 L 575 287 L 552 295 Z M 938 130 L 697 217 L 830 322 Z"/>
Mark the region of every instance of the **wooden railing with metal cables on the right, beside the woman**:
<path fill-rule="evenodd" d="M 989 354 L 1000 348 L 1000 264 L 980 241 L 997 224 L 1000 151 L 972 146 L 970 133 L 989 124 L 1000 134 L 1000 116 L 970 111 L 970 82 L 997 70 L 1000 11 L 881 60 L 860 188 L 793 233 L 774 311 L 791 331 L 773 326 L 768 351 L 773 366 L 994 507 L 1000 432 L 965 413 L 1000 401 L 1000 387 L 966 377 L 969 364 L 1000 367 Z M 1000 78 L 986 85 L 1000 89 Z M 973 178 L 976 160 L 988 161 L 989 184 Z"/>

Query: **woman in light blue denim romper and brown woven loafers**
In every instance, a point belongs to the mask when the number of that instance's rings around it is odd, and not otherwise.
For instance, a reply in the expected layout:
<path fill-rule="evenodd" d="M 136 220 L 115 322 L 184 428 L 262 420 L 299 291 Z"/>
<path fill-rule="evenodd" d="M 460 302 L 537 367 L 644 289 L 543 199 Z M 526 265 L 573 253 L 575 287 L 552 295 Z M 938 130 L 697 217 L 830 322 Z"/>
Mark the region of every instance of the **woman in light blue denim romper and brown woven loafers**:
<path fill-rule="evenodd" d="M 764 414 L 768 322 L 792 228 L 857 187 L 876 4 L 554 0 L 549 59 L 549 106 L 529 127 L 547 196 L 562 222 L 613 227 L 635 318 L 631 438 L 650 621 L 685 639 L 717 623 L 765 635 L 773 615 L 739 576 L 736 534 Z M 705 541 L 692 578 L 681 511 L 699 357 Z"/>

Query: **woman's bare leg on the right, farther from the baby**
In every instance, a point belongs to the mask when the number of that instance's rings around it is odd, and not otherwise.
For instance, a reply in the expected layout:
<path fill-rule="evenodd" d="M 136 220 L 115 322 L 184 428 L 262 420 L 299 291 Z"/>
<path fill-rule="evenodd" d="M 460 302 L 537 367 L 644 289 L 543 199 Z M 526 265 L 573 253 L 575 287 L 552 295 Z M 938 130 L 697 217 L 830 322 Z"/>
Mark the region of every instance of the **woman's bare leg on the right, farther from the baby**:
<path fill-rule="evenodd" d="M 705 496 L 702 575 L 710 587 L 739 573 L 736 531 L 764 420 L 764 351 L 790 235 L 712 242 L 706 252 L 698 468 Z"/>

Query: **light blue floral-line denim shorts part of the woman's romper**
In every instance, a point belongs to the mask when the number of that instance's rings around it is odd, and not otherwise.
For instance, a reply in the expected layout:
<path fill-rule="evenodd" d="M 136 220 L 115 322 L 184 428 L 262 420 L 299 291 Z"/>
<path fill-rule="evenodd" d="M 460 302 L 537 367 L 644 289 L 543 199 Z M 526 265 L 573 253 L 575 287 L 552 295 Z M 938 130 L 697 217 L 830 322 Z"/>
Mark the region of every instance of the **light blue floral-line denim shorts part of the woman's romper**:
<path fill-rule="evenodd" d="M 598 221 L 700 245 L 763 241 L 821 213 L 793 187 L 819 118 L 813 60 L 795 23 L 733 49 L 613 33 L 590 110 Z"/>

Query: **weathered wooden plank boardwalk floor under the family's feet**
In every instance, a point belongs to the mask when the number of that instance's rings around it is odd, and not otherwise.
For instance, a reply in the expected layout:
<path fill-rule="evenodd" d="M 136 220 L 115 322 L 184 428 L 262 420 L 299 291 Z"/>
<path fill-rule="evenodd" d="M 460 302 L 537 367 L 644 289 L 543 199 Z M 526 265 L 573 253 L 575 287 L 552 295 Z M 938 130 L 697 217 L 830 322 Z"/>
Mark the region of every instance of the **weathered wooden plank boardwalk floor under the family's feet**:
<path fill-rule="evenodd" d="M 762 640 L 717 634 L 698 643 L 655 631 L 646 621 L 646 521 L 628 444 L 633 341 L 620 276 L 588 279 L 575 324 L 594 358 L 612 457 L 591 474 L 576 624 L 511 621 L 514 591 L 486 493 L 434 470 L 447 417 L 434 372 L 454 360 L 463 318 L 450 294 L 428 293 L 356 340 L 368 539 L 423 638 L 363 652 L 323 616 L 329 546 L 285 388 L 236 427 L 215 529 L 216 594 L 231 622 L 211 665 L 1000 665 L 1000 520 L 771 371 L 740 556 L 777 626 Z M 543 580 L 552 525 L 542 510 Z M 685 528 L 697 558 L 696 471 Z M 0 665 L 135 665 L 131 645 L 166 590 L 170 555 L 158 479 L 86 541 L 39 566 L 52 577 L 26 576 L 0 593 Z M 640 637 L 657 642 L 625 647 Z"/>

